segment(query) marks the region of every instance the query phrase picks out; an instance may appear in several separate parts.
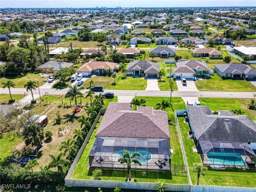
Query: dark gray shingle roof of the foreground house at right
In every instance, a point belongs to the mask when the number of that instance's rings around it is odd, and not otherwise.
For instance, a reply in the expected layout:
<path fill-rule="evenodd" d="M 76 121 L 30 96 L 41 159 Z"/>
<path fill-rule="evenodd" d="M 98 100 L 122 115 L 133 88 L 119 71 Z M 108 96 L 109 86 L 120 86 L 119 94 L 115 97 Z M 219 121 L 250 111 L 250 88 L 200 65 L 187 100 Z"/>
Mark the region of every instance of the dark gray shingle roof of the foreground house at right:
<path fill-rule="evenodd" d="M 186 106 L 197 140 L 256 142 L 256 124 L 247 115 L 213 115 L 209 106 Z"/>

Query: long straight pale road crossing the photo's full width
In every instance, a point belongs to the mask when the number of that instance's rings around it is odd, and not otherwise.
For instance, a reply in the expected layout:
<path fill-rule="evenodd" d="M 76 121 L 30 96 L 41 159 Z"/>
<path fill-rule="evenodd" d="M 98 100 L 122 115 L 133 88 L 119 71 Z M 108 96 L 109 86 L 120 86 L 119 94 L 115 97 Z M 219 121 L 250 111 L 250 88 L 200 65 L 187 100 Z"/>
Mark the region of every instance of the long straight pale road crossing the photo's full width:
<path fill-rule="evenodd" d="M 40 94 L 44 95 L 46 92 L 50 95 L 66 94 L 68 89 L 50 89 L 50 88 L 40 88 Z M 86 92 L 83 90 L 82 92 Z M 169 97 L 170 91 L 139 91 L 139 90 L 104 90 L 104 92 L 114 92 L 116 96 L 152 96 L 152 97 Z M 31 92 L 26 92 L 25 88 L 11 88 L 12 94 L 31 94 Z M 99 94 L 100 92 L 96 92 Z M 208 92 L 208 91 L 173 91 L 173 97 L 210 97 L 210 98 L 254 98 L 254 92 Z M 0 94 L 9 94 L 8 88 L 0 88 Z M 33 94 L 39 94 L 38 88 L 33 90 Z"/>

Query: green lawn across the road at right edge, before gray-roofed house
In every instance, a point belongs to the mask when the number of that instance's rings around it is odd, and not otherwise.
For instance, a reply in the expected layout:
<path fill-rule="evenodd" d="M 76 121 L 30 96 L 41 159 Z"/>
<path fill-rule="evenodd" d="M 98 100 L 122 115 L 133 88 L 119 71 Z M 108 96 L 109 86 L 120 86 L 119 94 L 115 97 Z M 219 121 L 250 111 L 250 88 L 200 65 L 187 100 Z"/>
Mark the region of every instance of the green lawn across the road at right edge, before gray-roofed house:
<path fill-rule="evenodd" d="M 234 91 L 234 92 L 255 92 L 256 87 L 245 80 L 222 80 L 214 73 L 209 79 L 195 82 L 199 91 Z"/>

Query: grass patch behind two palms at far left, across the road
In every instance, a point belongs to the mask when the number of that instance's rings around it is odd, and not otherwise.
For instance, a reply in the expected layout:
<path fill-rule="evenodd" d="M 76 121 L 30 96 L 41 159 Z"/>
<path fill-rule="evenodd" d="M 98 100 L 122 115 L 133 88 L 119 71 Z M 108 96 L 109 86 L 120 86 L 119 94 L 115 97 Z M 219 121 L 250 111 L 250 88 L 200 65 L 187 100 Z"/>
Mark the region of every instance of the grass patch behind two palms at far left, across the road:
<path fill-rule="evenodd" d="M 36 82 L 38 82 L 39 86 L 42 86 L 44 84 L 44 80 L 45 78 L 42 78 L 40 76 L 40 73 L 27 73 L 24 76 L 6 76 L 6 77 L 2 77 L 0 78 L 0 84 L 2 86 L 3 82 L 6 82 L 7 80 L 12 80 L 14 81 L 14 83 L 16 84 L 15 88 L 24 88 L 24 85 L 29 81 L 29 80 L 33 80 Z"/>

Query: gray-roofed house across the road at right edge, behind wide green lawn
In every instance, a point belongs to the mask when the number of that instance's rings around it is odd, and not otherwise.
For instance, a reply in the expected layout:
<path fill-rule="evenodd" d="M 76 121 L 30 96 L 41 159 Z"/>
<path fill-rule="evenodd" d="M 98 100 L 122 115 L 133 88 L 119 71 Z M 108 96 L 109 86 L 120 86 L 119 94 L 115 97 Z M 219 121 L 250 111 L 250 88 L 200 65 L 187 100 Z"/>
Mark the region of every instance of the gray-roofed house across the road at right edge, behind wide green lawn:
<path fill-rule="evenodd" d="M 256 69 L 242 63 L 228 63 L 215 65 L 214 70 L 220 77 L 224 78 L 246 78 L 248 80 L 256 79 Z"/>

